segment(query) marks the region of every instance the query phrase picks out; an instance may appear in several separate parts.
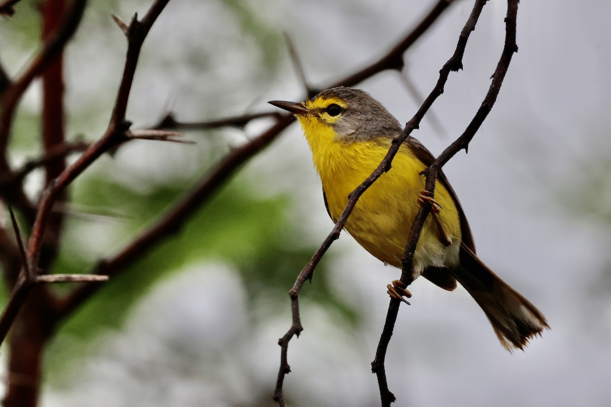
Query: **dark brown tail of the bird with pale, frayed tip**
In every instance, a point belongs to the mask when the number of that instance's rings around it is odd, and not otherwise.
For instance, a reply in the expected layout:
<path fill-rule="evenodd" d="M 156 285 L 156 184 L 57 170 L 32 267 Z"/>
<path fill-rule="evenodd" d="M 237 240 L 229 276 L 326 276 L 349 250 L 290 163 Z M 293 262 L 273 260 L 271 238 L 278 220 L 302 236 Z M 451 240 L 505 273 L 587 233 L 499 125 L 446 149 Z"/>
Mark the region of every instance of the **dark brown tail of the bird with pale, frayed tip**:
<path fill-rule="evenodd" d="M 531 337 L 549 329 L 543 314 L 465 245 L 461 245 L 460 267 L 453 274 L 483 309 L 508 351 L 523 349 Z"/>

